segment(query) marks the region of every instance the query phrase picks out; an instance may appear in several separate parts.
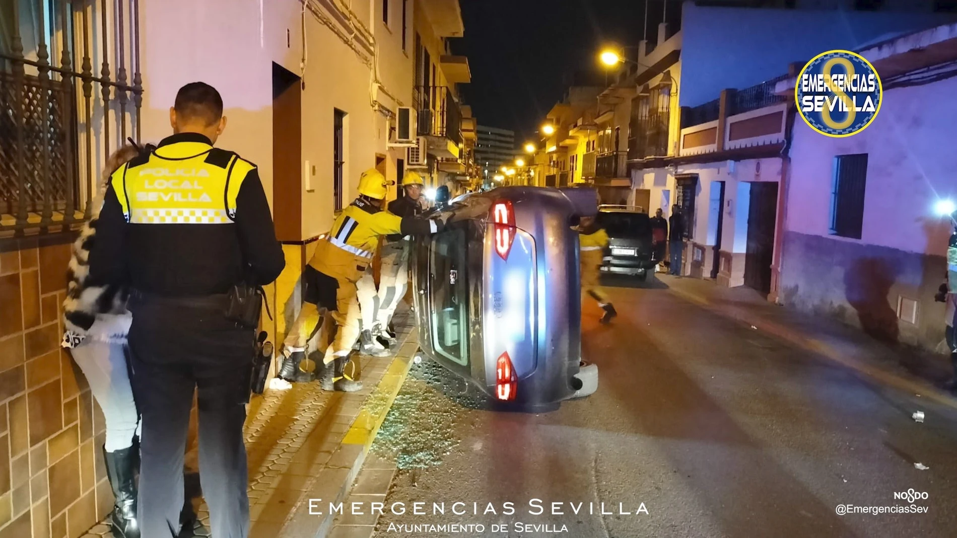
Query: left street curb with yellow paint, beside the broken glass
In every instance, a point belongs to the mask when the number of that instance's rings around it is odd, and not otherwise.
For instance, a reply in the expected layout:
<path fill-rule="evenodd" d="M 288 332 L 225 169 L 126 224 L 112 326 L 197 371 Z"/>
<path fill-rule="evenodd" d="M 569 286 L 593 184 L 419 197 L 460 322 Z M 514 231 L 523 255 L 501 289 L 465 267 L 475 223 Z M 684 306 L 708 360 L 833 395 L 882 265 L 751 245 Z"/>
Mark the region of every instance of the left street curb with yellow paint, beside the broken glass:
<path fill-rule="evenodd" d="M 303 492 L 293 514 L 282 527 L 281 536 L 290 538 L 325 538 L 332 531 L 336 514 L 327 513 L 329 503 L 344 503 L 379 428 L 389 414 L 392 402 L 412 368 L 412 358 L 418 351 L 418 330 L 412 328 L 398 352 L 389 363 L 382 379 L 363 400 L 358 415 L 349 425 L 339 447 L 332 453 L 325 468 Z M 324 476 L 323 476 L 324 475 Z M 322 491 L 322 495 L 314 495 Z M 322 499 L 322 515 L 310 514 L 309 499 Z"/>

